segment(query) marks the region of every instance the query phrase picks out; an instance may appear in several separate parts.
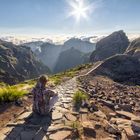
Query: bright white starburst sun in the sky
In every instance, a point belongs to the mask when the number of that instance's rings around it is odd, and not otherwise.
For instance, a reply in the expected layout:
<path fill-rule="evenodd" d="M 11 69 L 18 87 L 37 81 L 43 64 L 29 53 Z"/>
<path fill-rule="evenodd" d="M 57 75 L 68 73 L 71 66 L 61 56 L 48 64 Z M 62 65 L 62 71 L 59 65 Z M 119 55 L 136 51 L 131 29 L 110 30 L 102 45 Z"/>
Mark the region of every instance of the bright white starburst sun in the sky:
<path fill-rule="evenodd" d="M 86 5 L 84 0 L 71 0 L 69 1 L 71 6 L 70 16 L 74 16 L 76 21 L 79 22 L 81 18 L 87 19 L 90 6 Z"/>

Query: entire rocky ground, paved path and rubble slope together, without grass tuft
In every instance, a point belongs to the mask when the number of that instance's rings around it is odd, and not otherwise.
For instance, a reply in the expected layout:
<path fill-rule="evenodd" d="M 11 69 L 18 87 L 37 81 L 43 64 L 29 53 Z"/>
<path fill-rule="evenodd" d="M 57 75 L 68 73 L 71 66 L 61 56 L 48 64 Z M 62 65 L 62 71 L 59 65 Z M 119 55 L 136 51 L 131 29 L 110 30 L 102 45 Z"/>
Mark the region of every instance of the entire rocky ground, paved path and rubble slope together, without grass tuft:
<path fill-rule="evenodd" d="M 105 77 L 85 76 L 78 82 L 79 77 L 74 77 L 53 89 L 59 100 L 52 114 L 33 115 L 32 107 L 26 106 L 0 131 L 0 140 L 139 140 L 140 88 Z M 72 96 L 79 88 L 90 97 L 75 112 Z"/>

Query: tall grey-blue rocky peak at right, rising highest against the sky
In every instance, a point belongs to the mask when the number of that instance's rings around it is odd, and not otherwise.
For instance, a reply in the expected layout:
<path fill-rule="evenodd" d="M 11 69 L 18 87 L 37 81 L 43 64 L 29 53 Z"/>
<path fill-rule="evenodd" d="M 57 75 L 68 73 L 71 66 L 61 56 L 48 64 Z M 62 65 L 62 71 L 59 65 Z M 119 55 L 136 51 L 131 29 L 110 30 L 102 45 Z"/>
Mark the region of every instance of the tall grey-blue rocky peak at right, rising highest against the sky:
<path fill-rule="evenodd" d="M 96 49 L 90 60 L 101 61 L 115 54 L 123 54 L 129 45 L 129 40 L 123 31 L 117 31 L 101 39 L 96 44 Z"/>

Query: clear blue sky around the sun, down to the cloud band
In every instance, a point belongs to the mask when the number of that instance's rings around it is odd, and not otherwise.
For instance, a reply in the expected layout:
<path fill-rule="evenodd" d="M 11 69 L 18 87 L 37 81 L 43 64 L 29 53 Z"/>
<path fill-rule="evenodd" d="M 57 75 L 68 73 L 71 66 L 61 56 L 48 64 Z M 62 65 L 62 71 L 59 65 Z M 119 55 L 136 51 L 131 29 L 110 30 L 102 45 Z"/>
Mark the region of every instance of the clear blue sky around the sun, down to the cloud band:
<path fill-rule="evenodd" d="M 96 35 L 140 33 L 140 0 L 84 0 L 88 20 L 68 16 L 74 0 L 0 0 L 0 34 Z"/>

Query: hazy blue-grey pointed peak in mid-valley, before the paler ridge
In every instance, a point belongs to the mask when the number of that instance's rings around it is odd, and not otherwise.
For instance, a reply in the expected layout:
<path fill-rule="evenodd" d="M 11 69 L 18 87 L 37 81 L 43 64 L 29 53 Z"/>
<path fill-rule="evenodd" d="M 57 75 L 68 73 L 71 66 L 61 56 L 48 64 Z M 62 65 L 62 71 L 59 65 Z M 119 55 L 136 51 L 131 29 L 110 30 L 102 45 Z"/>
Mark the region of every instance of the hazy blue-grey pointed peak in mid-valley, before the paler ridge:
<path fill-rule="evenodd" d="M 72 47 L 60 53 L 54 72 L 65 71 L 86 62 L 88 62 L 88 55 Z"/>

